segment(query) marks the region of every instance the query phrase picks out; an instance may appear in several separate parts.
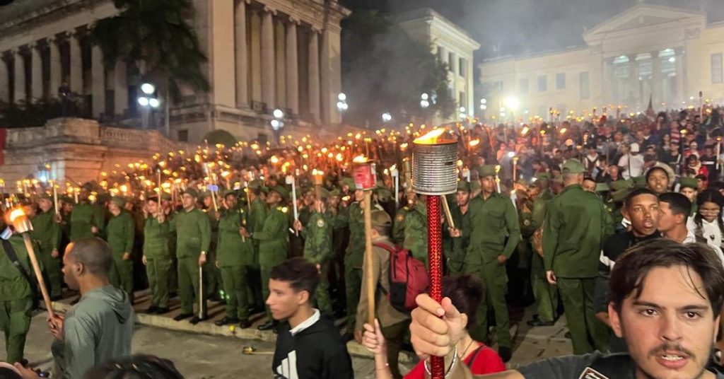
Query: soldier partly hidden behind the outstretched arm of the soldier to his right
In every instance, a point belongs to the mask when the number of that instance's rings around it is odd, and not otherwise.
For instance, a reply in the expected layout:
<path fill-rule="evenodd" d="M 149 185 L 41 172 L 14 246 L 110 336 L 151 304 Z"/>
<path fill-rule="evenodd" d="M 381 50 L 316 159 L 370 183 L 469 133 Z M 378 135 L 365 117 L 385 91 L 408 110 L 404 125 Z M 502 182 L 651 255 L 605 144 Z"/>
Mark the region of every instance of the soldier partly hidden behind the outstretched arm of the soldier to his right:
<path fill-rule="evenodd" d="M 248 188 L 248 201 L 251 201 L 251 210 L 246 220 L 246 228 L 250 233 L 261 232 L 264 228 L 264 220 L 269 209 L 266 203 L 261 199 L 261 180 L 252 180 Z M 261 273 L 259 272 L 259 241 L 252 238 L 254 245 L 253 264 L 248 267 L 248 286 L 249 301 L 253 306 L 253 311 L 261 311 L 264 309 L 264 296 L 261 293 Z"/>

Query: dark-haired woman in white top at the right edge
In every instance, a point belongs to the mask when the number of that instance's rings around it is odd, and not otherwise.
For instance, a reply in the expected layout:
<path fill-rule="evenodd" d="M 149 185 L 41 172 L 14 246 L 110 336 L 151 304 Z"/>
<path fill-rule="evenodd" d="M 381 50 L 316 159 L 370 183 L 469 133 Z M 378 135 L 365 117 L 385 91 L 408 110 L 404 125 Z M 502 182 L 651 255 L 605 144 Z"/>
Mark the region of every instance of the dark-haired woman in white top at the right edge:
<path fill-rule="evenodd" d="M 724 222 L 722 220 L 722 207 L 724 207 L 724 195 L 719 191 L 708 189 L 696 196 L 696 215 L 693 225 L 696 240 L 707 241 L 712 246 L 722 247 L 722 236 L 724 236 Z"/>

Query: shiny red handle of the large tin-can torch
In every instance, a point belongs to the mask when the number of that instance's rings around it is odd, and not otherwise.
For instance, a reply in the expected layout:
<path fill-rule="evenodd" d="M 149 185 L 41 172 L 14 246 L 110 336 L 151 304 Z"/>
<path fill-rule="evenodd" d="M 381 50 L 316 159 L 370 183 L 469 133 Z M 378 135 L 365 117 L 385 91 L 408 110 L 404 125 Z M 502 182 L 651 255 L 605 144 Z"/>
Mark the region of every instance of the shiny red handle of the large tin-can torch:
<path fill-rule="evenodd" d="M 442 230 L 440 196 L 427 196 L 427 254 L 430 263 L 430 296 L 442 301 Z M 445 357 L 431 357 L 432 379 L 445 378 Z"/>

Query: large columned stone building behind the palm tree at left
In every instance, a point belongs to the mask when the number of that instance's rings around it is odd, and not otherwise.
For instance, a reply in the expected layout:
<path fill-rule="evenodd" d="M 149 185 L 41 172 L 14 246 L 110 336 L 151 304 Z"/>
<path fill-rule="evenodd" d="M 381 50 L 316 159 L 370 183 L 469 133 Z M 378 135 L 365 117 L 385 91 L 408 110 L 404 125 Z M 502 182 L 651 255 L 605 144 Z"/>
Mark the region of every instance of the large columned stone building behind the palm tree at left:
<path fill-rule="evenodd" d="M 170 138 L 196 143 L 224 129 L 240 139 L 271 140 L 277 108 L 285 111 L 284 134 L 340 123 L 340 21 L 348 9 L 336 0 L 193 4 L 211 91 L 182 89 L 182 101 L 169 104 Z M 66 83 L 88 116 L 139 123 L 141 64 L 104 67 L 101 49 L 90 43 L 93 22 L 117 13 L 111 0 L 25 0 L 0 8 L 0 101 L 55 99 Z"/>

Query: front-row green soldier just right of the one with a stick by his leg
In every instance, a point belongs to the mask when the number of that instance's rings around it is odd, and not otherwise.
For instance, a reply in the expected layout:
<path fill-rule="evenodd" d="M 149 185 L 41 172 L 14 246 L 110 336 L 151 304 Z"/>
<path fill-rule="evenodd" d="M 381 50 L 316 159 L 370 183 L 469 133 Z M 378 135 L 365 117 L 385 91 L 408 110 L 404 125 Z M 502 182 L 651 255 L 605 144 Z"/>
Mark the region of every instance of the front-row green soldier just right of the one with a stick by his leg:
<path fill-rule="evenodd" d="M 254 262 L 254 243 L 248 238 L 246 217 L 248 213 L 239 207 L 235 191 L 224 196 L 226 209 L 219 218 L 219 243 L 216 244 L 216 266 L 222 272 L 222 284 L 226 294 L 226 317 L 214 322 L 216 325 L 239 323 L 242 329 L 251 326 L 249 322 L 249 301 L 247 292 L 248 267 Z M 246 236 L 243 236 L 246 234 Z"/>

